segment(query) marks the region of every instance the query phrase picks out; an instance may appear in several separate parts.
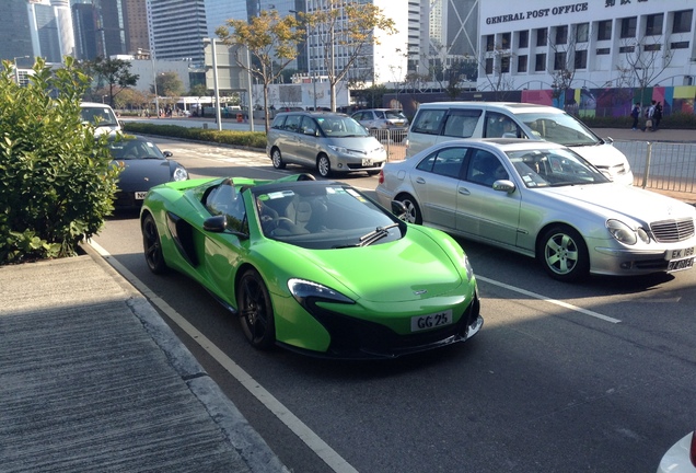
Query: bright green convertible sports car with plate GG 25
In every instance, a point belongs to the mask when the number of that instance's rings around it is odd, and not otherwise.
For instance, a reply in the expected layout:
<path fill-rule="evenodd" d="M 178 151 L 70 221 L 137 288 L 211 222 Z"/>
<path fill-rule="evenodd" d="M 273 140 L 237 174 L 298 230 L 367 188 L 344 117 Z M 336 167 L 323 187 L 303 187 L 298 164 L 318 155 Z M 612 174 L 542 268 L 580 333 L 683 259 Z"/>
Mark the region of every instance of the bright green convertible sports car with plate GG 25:
<path fill-rule="evenodd" d="M 256 348 L 394 358 L 464 342 L 483 325 L 461 246 L 343 183 L 172 182 L 150 189 L 140 223 L 150 269 L 197 280 Z"/>

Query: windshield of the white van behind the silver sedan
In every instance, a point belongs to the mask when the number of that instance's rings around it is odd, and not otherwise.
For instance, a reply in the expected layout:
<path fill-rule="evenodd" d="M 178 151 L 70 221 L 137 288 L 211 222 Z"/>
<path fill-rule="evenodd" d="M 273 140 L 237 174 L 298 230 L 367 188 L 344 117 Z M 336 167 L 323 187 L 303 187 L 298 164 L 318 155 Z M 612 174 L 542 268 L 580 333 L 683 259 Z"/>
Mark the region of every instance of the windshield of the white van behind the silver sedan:
<path fill-rule="evenodd" d="M 600 139 L 581 122 L 567 113 L 530 113 L 515 116 L 537 139 L 565 146 L 598 145 Z"/>

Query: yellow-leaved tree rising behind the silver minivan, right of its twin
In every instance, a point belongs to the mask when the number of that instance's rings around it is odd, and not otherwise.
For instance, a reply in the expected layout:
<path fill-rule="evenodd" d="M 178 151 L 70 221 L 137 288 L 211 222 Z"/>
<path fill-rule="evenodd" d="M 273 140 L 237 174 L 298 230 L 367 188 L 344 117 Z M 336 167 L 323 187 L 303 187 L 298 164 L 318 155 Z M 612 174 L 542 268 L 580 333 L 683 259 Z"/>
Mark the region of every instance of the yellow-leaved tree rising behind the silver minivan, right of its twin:
<path fill-rule="evenodd" d="M 368 46 L 379 45 L 375 33 L 398 33 L 394 20 L 384 16 L 373 3 L 347 3 L 326 0 L 325 8 L 302 15 L 306 27 L 324 47 L 324 68 L 330 86 L 330 107 L 336 112 L 336 84 L 341 81 Z M 341 50 L 341 65 L 336 64 L 335 47 Z"/>

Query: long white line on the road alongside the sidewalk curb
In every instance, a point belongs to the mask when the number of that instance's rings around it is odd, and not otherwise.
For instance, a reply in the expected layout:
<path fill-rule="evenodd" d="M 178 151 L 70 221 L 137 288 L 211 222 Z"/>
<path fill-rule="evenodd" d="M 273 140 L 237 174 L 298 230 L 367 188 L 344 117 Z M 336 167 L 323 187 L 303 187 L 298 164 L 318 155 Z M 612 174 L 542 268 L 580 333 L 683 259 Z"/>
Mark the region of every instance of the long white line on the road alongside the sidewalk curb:
<path fill-rule="evenodd" d="M 158 307 L 172 322 L 178 325 L 194 342 L 200 345 L 210 356 L 218 361 L 230 374 L 234 377 L 246 390 L 254 395 L 268 411 L 274 413 L 280 422 L 297 435 L 318 458 L 337 473 L 358 473 L 350 463 L 344 460 L 328 443 L 322 440 L 312 429 L 310 429 L 302 420 L 300 420 L 290 409 L 280 403 L 271 393 L 266 391 L 258 381 L 254 380 L 244 369 L 228 357 L 220 348 L 218 348 L 208 337 L 200 333 L 194 325 L 176 312 L 162 298 L 156 296 L 152 290 L 113 257 L 94 240 L 90 245 L 96 250 L 104 259 L 111 264 L 114 269 L 120 273 L 128 281 L 136 287 L 151 303 Z"/>

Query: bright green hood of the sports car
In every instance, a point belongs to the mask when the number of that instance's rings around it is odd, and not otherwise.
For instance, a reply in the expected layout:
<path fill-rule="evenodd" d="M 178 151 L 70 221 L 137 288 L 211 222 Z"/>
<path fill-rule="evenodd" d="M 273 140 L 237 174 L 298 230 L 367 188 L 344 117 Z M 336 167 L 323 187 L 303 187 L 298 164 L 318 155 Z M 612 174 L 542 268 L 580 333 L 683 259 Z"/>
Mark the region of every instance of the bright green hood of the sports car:
<path fill-rule="evenodd" d="M 449 293 L 462 285 L 461 272 L 452 262 L 453 252 L 409 228 L 409 238 L 370 246 L 339 250 L 301 250 L 297 256 L 320 267 L 336 284 L 368 301 L 404 302 Z M 462 262 L 463 265 L 463 262 Z"/>

